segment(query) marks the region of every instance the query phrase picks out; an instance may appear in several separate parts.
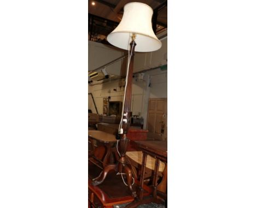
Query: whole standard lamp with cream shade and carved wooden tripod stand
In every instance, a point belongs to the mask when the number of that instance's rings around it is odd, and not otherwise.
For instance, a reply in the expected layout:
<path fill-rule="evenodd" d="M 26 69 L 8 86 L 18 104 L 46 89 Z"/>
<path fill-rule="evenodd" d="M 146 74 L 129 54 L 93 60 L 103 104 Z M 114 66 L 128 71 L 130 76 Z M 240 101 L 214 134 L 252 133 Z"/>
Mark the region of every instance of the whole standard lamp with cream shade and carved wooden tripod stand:
<path fill-rule="evenodd" d="M 103 170 L 99 180 L 94 181 L 94 184 L 100 184 L 106 177 L 110 169 L 118 170 L 119 173 L 126 174 L 127 185 L 129 186 L 133 197 L 136 192 L 132 189 L 132 173 L 129 165 L 127 166 L 126 149 L 129 143 L 127 132 L 130 126 L 131 119 L 131 90 L 132 90 L 132 74 L 133 74 L 133 58 L 136 52 L 156 51 L 161 46 L 161 41 L 155 36 L 152 29 L 153 9 L 147 4 L 132 2 L 124 6 L 124 15 L 121 22 L 107 36 L 110 44 L 129 51 L 127 72 L 126 72 L 126 87 L 124 94 L 124 105 L 121 115 L 121 123 L 119 133 L 121 134 L 120 158 L 116 166 L 108 166 Z"/>

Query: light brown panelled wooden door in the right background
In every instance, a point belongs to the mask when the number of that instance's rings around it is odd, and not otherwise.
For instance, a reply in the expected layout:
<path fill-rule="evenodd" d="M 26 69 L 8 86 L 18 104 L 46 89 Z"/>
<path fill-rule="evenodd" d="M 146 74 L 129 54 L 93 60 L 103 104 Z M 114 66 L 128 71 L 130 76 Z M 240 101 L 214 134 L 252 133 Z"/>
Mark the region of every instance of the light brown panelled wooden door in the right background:
<path fill-rule="evenodd" d="M 162 140 L 167 139 L 167 98 L 149 99 L 147 129 Z"/>

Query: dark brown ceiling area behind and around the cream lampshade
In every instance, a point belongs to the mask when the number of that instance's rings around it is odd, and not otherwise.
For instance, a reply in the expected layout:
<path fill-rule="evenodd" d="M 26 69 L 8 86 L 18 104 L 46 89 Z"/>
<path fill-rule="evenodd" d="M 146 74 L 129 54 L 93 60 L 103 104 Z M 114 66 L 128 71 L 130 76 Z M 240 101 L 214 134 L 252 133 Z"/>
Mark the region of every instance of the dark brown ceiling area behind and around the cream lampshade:
<path fill-rule="evenodd" d="M 117 27 L 124 5 L 130 2 L 145 3 L 154 10 L 152 22 L 156 34 L 167 30 L 167 0 L 89 0 L 89 40 L 106 41 L 106 34 Z"/>

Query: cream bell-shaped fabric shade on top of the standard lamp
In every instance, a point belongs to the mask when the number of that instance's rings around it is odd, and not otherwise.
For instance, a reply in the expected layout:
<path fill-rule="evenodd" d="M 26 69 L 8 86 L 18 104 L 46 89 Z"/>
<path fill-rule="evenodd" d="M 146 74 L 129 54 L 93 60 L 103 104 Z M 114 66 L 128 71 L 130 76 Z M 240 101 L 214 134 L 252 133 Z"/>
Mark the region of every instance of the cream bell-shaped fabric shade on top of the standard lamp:
<path fill-rule="evenodd" d="M 110 44 L 129 50 L 132 34 L 136 34 L 135 51 L 156 51 L 162 46 L 152 29 L 153 9 L 147 4 L 132 2 L 124 6 L 124 15 L 117 26 L 107 36 Z"/>

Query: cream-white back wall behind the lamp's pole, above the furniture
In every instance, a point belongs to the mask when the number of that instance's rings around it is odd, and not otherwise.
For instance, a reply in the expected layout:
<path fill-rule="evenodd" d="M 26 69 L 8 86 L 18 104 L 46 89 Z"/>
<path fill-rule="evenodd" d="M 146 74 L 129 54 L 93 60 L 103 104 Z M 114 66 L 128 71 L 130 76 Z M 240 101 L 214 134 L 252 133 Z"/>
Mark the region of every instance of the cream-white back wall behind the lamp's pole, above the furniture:
<path fill-rule="evenodd" d="M 98 44 L 89 43 L 89 69 L 96 69 L 118 57 L 123 56 L 123 52 L 115 48 Z M 167 38 L 162 40 L 160 50 L 150 53 L 136 53 L 134 62 L 134 72 L 155 68 L 167 64 Z M 121 62 L 110 65 L 106 68 L 109 74 L 120 75 Z M 150 87 L 148 87 L 148 78 Z M 98 109 L 98 113 L 103 113 L 103 97 L 110 96 L 110 101 L 121 101 L 124 98 L 124 87 L 119 87 L 121 80 L 115 80 L 105 83 L 93 82 L 89 85 L 89 93 L 92 93 Z M 116 89 L 117 91 L 114 91 Z M 160 69 L 144 72 L 144 79 L 136 81 L 133 78 L 131 111 L 133 114 L 141 114 L 143 118 L 147 114 L 147 103 L 149 98 L 167 97 L 167 70 Z M 96 113 L 94 103 L 89 96 L 88 107 L 93 113 Z"/>

